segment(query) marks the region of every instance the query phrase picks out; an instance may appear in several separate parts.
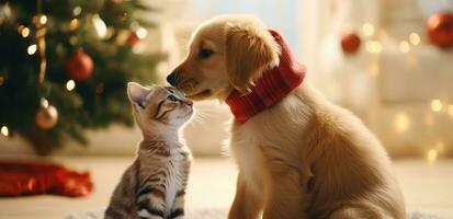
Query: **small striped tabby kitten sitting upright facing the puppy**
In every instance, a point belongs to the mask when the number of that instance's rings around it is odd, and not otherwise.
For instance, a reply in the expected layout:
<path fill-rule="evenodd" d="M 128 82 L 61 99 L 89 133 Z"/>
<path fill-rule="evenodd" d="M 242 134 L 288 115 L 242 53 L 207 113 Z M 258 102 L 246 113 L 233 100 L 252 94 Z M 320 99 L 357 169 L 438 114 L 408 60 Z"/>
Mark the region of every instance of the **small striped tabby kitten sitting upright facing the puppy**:
<path fill-rule="evenodd" d="M 127 84 L 143 140 L 134 163 L 116 186 L 105 219 L 173 219 L 184 216 L 191 153 L 179 138 L 192 115 L 192 101 L 171 87 Z"/>

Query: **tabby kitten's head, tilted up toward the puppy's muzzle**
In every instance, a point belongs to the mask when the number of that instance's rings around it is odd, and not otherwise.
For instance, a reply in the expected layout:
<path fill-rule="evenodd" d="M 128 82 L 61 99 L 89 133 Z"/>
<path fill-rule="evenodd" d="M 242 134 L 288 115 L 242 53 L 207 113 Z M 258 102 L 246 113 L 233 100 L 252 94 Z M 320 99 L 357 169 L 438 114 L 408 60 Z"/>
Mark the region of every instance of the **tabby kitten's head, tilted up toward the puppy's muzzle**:
<path fill-rule="evenodd" d="M 193 115 L 193 102 L 172 87 L 145 88 L 129 82 L 127 96 L 133 105 L 135 120 L 144 131 L 179 128 Z"/>

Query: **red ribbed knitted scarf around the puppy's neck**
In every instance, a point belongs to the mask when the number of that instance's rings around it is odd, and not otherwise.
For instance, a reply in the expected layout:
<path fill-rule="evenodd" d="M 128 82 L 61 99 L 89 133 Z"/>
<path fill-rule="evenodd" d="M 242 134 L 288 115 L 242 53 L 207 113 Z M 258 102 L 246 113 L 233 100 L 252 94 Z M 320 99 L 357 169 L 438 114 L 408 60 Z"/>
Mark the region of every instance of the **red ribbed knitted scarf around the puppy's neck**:
<path fill-rule="evenodd" d="M 279 66 L 264 71 L 250 93 L 235 90 L 225 101 L 241 124 L 287 96 L 305 78 L 305 66 L 297 62 L 283 36 L 273 30 L 269 32 L 282 49 Z"/>

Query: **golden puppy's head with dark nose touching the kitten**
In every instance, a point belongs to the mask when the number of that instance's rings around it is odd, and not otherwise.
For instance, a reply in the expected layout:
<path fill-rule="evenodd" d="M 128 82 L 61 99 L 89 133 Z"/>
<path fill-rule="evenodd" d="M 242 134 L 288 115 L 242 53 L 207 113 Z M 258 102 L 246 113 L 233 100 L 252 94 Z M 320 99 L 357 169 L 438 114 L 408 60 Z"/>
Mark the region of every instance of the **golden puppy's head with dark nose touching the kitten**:
<path fill-rule="evenodd" d="M 279 62 L 280 47 L 249 15 L 222 15 L 192 35 L 185 60 L 167 78 L 193 100 L 225 100 L 231 90 L 250 91 L 261 72 Z"/>

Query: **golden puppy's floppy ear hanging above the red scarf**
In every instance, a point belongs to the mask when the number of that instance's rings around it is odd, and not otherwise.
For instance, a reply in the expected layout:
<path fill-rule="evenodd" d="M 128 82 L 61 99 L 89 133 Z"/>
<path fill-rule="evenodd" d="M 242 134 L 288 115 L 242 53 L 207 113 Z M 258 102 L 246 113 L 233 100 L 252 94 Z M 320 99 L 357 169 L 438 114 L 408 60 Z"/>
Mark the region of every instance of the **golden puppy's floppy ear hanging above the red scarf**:
<path fill-rule="evenodd" d="M 225 41 L 229 83 L 242 93 L 250 92 L 253 80 L 279 62 L 280 46 L 253 19 L 227 24 Z"/>

